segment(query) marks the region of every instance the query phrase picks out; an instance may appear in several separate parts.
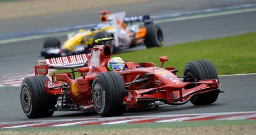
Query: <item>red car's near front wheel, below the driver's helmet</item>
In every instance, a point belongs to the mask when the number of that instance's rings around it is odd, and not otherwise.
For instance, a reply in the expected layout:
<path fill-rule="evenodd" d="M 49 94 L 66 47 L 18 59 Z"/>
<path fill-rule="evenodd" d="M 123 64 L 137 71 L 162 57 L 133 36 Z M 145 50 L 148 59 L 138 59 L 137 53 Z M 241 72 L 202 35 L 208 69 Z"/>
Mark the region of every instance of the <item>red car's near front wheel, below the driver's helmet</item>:
<path fill-rule="evenodd" d="M 102 117 L 123 115 L 126 106 L 123 98 L 126 87 L 122 75 L 117 72 L 102 72 L 92 84 L 92 100 L 96 112 Z"/>

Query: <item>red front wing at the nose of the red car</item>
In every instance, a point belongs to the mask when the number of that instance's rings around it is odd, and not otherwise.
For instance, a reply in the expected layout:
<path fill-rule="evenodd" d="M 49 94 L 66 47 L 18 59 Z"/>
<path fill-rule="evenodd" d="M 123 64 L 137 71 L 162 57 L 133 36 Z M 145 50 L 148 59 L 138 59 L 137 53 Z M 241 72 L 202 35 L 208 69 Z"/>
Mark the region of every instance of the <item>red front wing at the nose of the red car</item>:
<path fill-rule="evenodd" d="M 197 84 L 197 86 L 185 89 L 185 86 Z M 184 82 L 182 85 L 164 85 L 158 88 L 139 89 L 127 91 L 123 99 L 126 105 L 133 105 L 140 102 L 162 101 L 169 105 L 183 105 L 192 98 L 193 95 L 203 94 L 206 92 L 220 92 L 220 85 L 217 80 L 205 80 L 199 82 Z"/>

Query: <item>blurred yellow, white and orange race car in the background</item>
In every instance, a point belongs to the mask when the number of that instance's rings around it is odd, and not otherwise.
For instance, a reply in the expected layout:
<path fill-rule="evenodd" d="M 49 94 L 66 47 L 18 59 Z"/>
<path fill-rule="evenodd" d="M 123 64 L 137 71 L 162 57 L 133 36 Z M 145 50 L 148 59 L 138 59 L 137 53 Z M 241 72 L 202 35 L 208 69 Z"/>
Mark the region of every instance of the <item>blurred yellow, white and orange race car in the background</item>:
<path fill-rule="evenodd" d="M 164 43 L 162 30 L 153 24 L 149 15 L 126 16 L 125 12 L 100 12 L 101 23 L 91 30 L 80 29 L 67 35 L 68 39 L 61 46 L 56 37 L 44 41 L 41 56 L 44 58 L 72 56 L 89 53 L 95 39 L 114 37 L 110 43 L 112 50 L 119 51 L 144 44 L 147 47 L 161 47 Z M 134 22 L 143 22 L 135 25 Z"/>

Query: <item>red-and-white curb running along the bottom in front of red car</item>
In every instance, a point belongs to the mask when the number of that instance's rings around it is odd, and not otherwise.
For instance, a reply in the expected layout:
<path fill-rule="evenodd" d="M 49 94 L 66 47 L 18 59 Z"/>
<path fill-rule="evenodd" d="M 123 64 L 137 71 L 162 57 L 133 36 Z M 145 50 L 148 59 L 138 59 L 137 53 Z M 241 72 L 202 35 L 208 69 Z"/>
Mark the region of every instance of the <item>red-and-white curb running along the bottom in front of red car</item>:
<path fill-rule="evenodd" d="M 133 117 L 101 117 L 88 119 L 66 120 L 39 120 L 27 122 L 0 122 L 0 129 L 19 127 L 63 127 L 86 126 L 96 124 L 125 124 L 125 123 L 160 123 L 160 122 L 188 122 L 199 120 L 256 120 L 255 112 L 229 112 L 229 113 L 200 113 L 185 115 L 162 116 L 133 116 Z"/>

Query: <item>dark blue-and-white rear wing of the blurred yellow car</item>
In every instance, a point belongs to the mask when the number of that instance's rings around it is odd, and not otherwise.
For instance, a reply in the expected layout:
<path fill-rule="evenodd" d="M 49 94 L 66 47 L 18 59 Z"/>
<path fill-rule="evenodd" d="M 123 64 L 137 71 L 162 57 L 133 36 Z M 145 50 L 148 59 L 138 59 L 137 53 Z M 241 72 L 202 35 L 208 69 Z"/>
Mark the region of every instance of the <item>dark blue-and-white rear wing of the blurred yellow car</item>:
<path fill-rule="evenodd" d="M 149 15 L 137 15 L 137 16 L 126 16 L 123 19 L 124 23 L 133 23 L 133 22 L 144 22 L 144 25 L 153 24 L 153 19 Z"/>

